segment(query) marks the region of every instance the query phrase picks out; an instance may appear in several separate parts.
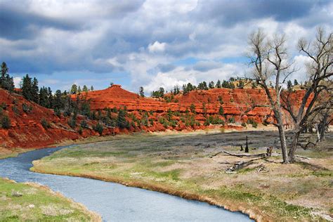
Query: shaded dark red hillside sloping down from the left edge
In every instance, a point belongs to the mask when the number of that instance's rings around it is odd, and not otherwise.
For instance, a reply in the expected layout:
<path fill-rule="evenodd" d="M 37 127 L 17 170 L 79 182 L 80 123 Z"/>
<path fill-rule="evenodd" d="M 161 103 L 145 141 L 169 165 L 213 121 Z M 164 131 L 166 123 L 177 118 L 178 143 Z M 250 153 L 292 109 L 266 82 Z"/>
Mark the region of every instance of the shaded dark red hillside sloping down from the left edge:
<path fill-rule="evenodd" d="M 32 103 L 15 93 L 0 89 L 0 117 L 8 116 L 11 121 L 9 129 L 0 128 L 0 147 L 2 148 L 41 148 L 64 140 L 74 140 L 98 135 L 92 129 L 84 129 L 80 134 L 68 124 L 68 117 L 58 117 L 53 110 Z M 28 107 L 25 112 L 23 105 Z M 77 122 L 79 124 L 78 117 Z M 42 122 L 49 126 L 44 127 Z M 89 122 L 93 124 L 93 122 Z M 105 130 L 105 133 L 110 131 Z"/>

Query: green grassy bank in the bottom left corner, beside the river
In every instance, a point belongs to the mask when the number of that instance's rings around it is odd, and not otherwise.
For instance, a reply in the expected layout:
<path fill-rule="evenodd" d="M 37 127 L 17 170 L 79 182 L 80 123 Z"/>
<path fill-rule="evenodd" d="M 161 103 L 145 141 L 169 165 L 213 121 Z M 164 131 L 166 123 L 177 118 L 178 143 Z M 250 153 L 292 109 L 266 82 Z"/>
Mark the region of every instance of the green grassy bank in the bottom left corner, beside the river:
<path fill-rule="evenodd" d="M 0 178 L 0 221 L 101 221 L 97 214 L 48 188 Z"/>

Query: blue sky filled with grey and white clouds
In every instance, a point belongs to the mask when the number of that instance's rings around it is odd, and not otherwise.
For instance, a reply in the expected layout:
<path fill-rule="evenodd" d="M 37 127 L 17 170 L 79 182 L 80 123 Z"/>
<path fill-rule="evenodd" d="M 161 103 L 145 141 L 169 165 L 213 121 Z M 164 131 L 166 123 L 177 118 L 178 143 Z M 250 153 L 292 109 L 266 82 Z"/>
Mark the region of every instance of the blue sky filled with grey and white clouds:
<path fill-rule="evenodd" d="M 30 74 L 53 91 L 113 82 L 149 94 L 249 75 L 247 38 L 261 28 L 286 34 L 302 81 L 296 43 L 332 21 L 332 0 L 0 0 L 0 61 L 15 86 Z"/>

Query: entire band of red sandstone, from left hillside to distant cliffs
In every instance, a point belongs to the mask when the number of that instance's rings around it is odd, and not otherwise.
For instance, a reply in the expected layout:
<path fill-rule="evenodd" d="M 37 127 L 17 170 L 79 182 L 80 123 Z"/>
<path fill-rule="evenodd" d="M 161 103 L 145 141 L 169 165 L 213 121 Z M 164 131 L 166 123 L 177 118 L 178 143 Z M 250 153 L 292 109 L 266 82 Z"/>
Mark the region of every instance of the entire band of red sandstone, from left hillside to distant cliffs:
<path fill-rule="evenodd" d="M 292 103 L 299 105 L 304 91 L 292 93 Z M 136 93 L 131 93 L 121 88 L 119 85 L 110 86 L 107 89 L 99 91 L 89 91 L 79 95 L 72 95 L 76 100 L 77 96 L 81 100 L 89 101 L 91 110 L 103 110 L 105 107 L 123 109 L 129 112 L 126 119 L 131 122 L 129 129 L 123 129 L 122 132 L 129 131 L 165 131 L 166 129 L 184 130 L 184 129 L 205 129 L 212 126 L 204 126 L 207 117 L 214 116 L 223 119 L 226 123 L 228 119 L 234 118 L 237 125 L 226 124 L 225 128 L 242 129 L 240 123 L 253 119 L 258 123 L 264 120 L 273 121 L 273 113 L 270 110 L 268 98 L 263 89 L 210 89 L 209 91 L 190 91 L 187 95 L 178 94 L 174 96 L 172 103 L 166 103 L 163 99 L 142 98 Z M 171 95 L 169 95 L 171 96 Z M 0 147 L 13 148 L 40 148 L 46 145 L 58 143 L 70 139 L 84 138 L 98 135 L 93 131 L 92 125 L 95 121 L 90 121 L 85 117 L 78 116 L 77 124 L 81 119 L 86 119 L 90 129 L 84 129 L 81 134 L 77 129 L 72 129 L 68 124 L 68 117 L 57 117 L 53 110 L 41 107 L 31 103 L 16 93 L 8 93 L 0 89 L 0 104 L 5 104 L 2 111 L 11 119 L 10 129 L 0 129 Z M 22 104 L 25 103 L 32 107 L 32 111 L 26 113 L 22 110 Z M 195 105 L 195 113 L 190 112 L 190 106 Z M 224 115 L 218 115 L 220 107 L 223 107 Z M 15 110 L 15 112 L 13 111 Z M 174 126 L 164 125 L 161 119 L 167 119 L 168 111 L 177 112 L 170 120 L 176 122 Z M 181 115 L 179 115 L 181 113 Z M 116 116 L 116 114 L 113 114 Z M 144 115 L 152 124 L 140 124 Z M 192 118 L 199 126 L 189 126 L 188 120 L 184 122 L 184 117 Z M 50 124 L 49 128 L 44 128 L 41 119 L 45 119 Z M 137 119 L 134 122 L 133 119 Z M 103 135 L 119 133 L 119 129 L 104 127 Z"/>

